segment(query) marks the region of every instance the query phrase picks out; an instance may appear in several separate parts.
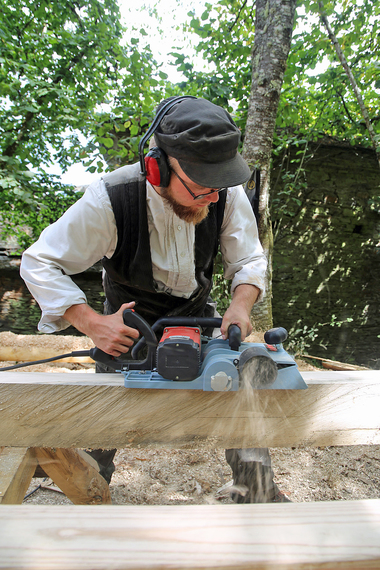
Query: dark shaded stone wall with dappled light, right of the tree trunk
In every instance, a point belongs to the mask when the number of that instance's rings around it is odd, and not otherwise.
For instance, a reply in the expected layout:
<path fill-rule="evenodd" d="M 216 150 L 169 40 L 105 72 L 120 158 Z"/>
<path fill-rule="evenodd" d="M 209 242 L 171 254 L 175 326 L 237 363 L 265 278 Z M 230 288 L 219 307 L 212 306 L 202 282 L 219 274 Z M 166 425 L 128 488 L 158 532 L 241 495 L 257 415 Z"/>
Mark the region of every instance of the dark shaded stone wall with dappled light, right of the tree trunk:
<path fill-rule="evenodd" d="M 302 149 L 286 157 L 297 172 Z M 298 154 L 297 154 L 298 152 Z M 295 161 L 295 162 L 292 162 Z M 314 145 L 272 173 L 273 315 L 305 354 L 380 368 L 380 170 L 370 149 Z"/>

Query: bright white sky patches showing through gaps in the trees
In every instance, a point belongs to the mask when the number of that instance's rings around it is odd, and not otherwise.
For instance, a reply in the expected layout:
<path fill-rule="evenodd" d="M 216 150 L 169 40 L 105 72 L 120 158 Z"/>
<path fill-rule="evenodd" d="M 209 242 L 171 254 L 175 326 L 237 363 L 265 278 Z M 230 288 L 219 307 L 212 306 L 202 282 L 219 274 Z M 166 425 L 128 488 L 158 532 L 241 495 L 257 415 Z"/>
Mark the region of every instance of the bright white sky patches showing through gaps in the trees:
<path fill-rule="evenodd" d="M 138 30 L 144 28 L 148 33 L 146 41 L 149 42 L 154 51 L 155 59 L 159 63 L 163 63 L 162 70 L 169 75 L 169 79 L 173 82 L 179 81 L 182 76 L 173 66 L 167 64 L 168 53 L 172 51 L 173 44 L 181 45 L 183 36 L 180 30 L 176 28 L 184 23 L 190 10 L 195 10 L 200 15 L 204 10 L 206 0 L 161 0 L 159 2 L 159 15 L 162 22 L 159 25 L 163 30 L 160 36 L 157 20 L 149 16 L 149 8 L 153 8 L 157 4 L 157 0 L 146 0 L 145 2 L 132 2 L 132 0 L 118 0 L 122 24 L 130 28 L 135 26 Z M 136 10 L 134 6 L 138 6 Z M 146 6 L 146 10 L 141 10 Z M 143 40 L 143 36 L 141 37 Z M 128 41 L 128 37 L 126 37 Z M 49 169 L 51 174 L 61 175 L 58 166 Z M 91 174 L 86 172 L 82 164 L 71 166 L 67 172 L 61 175 L 61 181 L 64 184 L 74 184 L 75 186 L 88 185 L 93 180 L 99 178 L 98 173 Z"/>

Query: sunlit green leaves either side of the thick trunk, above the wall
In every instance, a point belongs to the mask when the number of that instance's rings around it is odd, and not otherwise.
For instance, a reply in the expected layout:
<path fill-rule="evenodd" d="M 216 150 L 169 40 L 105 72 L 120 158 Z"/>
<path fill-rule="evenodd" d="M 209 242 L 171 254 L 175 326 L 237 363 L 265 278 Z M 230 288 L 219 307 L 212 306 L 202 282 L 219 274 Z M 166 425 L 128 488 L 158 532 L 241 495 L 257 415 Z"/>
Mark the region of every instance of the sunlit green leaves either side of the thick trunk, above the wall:
<path fill-rule="evenodd" d="M 323 4 L 380 137 L 379 3 L 337 0 Z M 253 0 L 206 3 L 200 18 L 189 13 L 187 29 L 198 37 L 196 51 L 210 71 L 198 71 L 189 58 L 175 54 L 187 88 L 233 110 L 243 132 L 252 65 L 254 72 L 254 17 Z M 356 97 L 319 21 L 316 0 L 304 0 L 297 9 L 277 129 L 281 140 L 275 146 L 283 144 L 284 137 L 316 140 L 325 135 L 352 144 L 371 144 Z"/>

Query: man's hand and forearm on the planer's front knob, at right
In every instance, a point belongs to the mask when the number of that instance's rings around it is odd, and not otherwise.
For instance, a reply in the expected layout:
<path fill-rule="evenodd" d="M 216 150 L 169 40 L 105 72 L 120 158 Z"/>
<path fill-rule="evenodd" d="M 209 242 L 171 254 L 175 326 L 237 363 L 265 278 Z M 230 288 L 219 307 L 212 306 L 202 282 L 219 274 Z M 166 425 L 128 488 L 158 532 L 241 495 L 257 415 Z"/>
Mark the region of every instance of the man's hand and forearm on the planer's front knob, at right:
<path fill-rule="evenodd" d="M 251 334 L 250 314 L 259 293 L 260 290 L 255 285 L 243 284 L 236 287 L 231 304 L 224 314 L 220 327 L 224 339 L 228 338 L 230 325 L 238 325 L 242 340 Z"/>

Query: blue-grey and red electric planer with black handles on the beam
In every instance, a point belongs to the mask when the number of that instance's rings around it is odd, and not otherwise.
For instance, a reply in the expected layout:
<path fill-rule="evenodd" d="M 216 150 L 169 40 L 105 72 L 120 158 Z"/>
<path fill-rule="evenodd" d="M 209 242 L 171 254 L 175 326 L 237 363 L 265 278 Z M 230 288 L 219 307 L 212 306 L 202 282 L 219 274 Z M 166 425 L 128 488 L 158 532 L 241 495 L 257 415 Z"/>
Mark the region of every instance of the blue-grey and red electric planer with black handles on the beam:
<path fill-rule="evenodd" d="M 202 330 L 220 328 L 221 318 L 164 317 L 151 327 L 131 309 L 124 323 L 142 338 L 128 360 L 115 358 L 98 348 L 89 356 L 124 375 L 126 388 L 185 389 L 222 392 L 244 386 L 256 390 L 302 390 L 304 382 L 294 359 L 282 343 L 287 331 L 274 328 L 264 343 L 241 341 L 239 327 L 231 325 L 228 340 L 204 336 Z M 160 332 L 160 340 L 156 333 Z M 138 359 L 143 349 L 144 358 Z"/>

